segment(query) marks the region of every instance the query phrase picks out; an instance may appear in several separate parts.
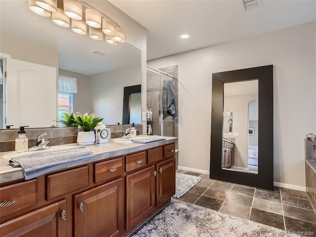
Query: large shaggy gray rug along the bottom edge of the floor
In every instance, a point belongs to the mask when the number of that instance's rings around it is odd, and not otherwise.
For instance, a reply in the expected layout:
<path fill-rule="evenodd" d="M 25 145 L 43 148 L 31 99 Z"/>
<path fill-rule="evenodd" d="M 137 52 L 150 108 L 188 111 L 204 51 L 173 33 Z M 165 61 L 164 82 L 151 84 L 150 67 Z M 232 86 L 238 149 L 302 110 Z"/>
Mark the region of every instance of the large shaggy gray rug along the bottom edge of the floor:
<path fill-rule="evenodd" d="M 260 223 L 173 199 L 133 237 L 298 237 Z"/>

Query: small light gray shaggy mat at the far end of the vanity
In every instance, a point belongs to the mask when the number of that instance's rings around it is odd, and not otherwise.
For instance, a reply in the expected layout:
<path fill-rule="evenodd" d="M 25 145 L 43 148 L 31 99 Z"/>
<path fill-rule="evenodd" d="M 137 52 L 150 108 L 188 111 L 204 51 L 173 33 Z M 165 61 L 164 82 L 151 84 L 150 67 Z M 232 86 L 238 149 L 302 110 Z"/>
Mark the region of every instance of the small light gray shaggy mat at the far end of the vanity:
<path fill-rule="evenodd" d="M 173 197 L 180 198 L 192 189 L 202 178 L 176 172 L 176 193 Z"/>

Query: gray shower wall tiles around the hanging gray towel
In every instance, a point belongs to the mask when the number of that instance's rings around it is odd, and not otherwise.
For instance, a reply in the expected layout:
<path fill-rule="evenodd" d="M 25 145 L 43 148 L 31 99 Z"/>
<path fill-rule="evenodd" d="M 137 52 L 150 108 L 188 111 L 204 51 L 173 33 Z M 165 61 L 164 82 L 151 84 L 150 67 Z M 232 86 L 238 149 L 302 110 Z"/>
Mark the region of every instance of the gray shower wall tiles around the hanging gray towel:
<path fill-rule="evenodd" d="M 166 68 L 160 68 L 171 76 L 178 78 L 178 66 L 171 66 Z M 152 76 L 152 77 L 151 77 Z M 152 109 L 153 112 L 153 134 L 160 134 L 159 116 L 160 116 L 160 81 L 154 79 L 155 75 L 150 75 L 147 78 L 147 108 Z M 157 76 L 156 76 L 157 77 Z M 178 136 L 178 119 L 174 119 L 166 113 L 166 83 L 168 79 L 172 79 L 174 91 L 176 92 L 176 106 L 179 116 L 179 105 L 178 105 L 178 81 L 166 75 L 162 77 L 162 111 L 163 111 L 163 135 L 164 136 Z"/>

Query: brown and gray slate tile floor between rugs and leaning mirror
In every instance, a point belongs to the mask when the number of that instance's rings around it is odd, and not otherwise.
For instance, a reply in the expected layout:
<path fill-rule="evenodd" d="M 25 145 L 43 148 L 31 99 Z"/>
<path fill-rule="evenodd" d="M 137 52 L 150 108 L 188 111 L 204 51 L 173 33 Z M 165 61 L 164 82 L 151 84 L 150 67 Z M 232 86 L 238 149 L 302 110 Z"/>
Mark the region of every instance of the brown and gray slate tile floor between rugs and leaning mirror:
<path fill-rule="evenodd" d="M 274 191 L 209 179 L 208 175 L 177 170 L 202 179 L 182 201 L 211 208 L 289 232 L 314 232 L 316 211 L 306 192 L 278 188 Z M 309 235 L 308 237 L 310 237 Z"/>

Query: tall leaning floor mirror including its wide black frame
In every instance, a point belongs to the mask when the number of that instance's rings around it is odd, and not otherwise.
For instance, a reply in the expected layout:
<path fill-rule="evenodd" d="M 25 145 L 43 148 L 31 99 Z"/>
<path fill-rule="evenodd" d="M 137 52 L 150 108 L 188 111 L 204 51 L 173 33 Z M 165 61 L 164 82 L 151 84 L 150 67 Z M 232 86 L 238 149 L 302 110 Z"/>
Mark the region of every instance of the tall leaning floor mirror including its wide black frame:
<path fill-rule="evenodd" d="M 273 65 L 214 73 L 210 178 L 273 189 Z"/>

